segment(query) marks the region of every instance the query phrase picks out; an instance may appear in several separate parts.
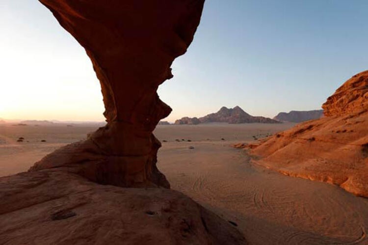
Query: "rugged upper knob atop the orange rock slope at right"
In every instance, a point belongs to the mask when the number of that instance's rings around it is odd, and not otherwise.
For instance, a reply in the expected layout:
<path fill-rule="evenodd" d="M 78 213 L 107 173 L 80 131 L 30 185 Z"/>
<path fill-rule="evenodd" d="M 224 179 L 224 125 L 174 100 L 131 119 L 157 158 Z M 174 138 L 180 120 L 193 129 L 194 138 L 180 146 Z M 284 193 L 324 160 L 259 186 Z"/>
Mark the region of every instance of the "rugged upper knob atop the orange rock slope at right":
<path fill-rule="evenodd" d="M 368 109 L 368 71 L 354 75 L 322 105 L 325 116 L 346 115 Z"/>

